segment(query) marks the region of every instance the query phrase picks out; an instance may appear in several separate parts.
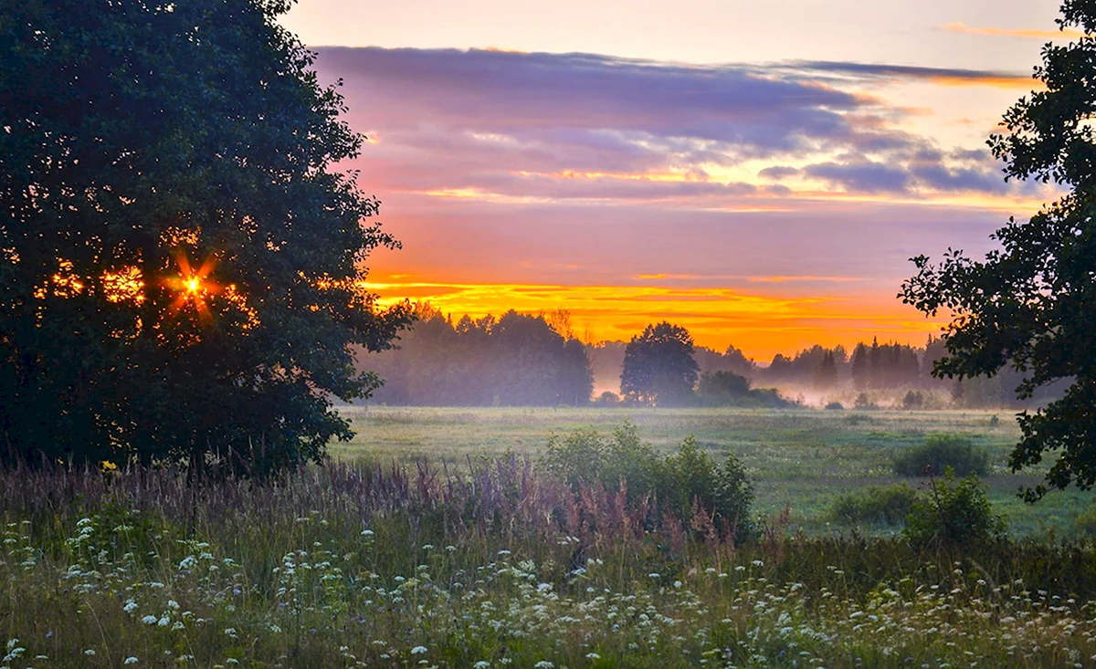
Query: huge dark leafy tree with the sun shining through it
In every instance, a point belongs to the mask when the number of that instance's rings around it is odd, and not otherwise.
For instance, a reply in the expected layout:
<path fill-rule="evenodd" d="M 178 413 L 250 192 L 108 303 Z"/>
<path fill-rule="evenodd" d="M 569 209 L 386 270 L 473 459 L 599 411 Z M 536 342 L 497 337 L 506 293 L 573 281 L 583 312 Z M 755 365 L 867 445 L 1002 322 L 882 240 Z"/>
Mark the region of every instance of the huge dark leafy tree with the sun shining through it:
<path fill-rule="evenodd" d="M 261 475 L 350 438 L 408 310 L 282 0 L 0 5 L 0 463 Z"/>

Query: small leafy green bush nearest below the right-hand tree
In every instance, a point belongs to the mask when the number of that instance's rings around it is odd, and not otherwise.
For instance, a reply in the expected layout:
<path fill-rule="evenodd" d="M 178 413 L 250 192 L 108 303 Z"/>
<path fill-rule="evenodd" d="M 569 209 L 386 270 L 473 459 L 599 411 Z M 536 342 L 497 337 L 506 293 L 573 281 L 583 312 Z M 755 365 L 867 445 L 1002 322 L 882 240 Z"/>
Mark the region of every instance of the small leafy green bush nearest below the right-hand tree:
<path fill-rule="evenodd" d="M 914 546 L 926 547 L 984 543 L 1004 531 L 1005 522 L 990 508 L 981 480 L 971 474 L 957 482 L 948 468 L 914 498 L 903 533 Z"/>

